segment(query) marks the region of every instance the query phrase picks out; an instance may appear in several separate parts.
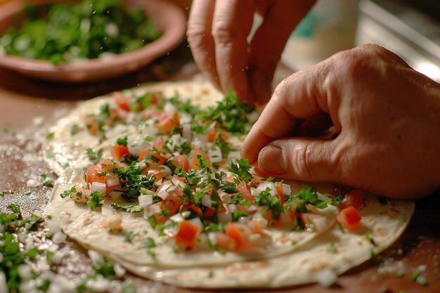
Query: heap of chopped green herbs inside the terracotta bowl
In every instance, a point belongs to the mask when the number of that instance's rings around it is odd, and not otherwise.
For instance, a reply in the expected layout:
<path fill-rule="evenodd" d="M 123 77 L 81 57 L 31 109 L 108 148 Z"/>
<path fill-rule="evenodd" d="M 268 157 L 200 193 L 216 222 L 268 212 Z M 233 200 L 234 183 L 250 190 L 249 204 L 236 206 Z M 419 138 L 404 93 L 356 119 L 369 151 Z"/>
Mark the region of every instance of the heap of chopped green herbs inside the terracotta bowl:
<path fill-rule="evenodd" d="M 28 6 L 21 27 L 11 27 L 0 38 L 8 55 L 72 63 L 133 51 L 161 35 L 141 9 L 128 9 L 123 1 L 84 0 L 44 7 L 47 16 L 41 18 L 41 9 Z"/>

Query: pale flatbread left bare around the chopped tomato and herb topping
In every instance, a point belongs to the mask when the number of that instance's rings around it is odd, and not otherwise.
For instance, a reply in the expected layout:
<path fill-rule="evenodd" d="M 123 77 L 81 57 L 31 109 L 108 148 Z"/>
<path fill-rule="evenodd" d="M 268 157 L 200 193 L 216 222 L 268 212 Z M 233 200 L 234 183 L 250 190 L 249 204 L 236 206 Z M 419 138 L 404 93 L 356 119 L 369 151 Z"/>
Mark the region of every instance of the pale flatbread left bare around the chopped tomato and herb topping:
<path fill-rule="evenodd" d="M 160 83 L 133 91 L 138 94 L 160 91 L 164 96 L 179 92 L 181 98 L 190 98 L 192 103 L 205 107 L 215 105 L 223 97 L 207 82 Z M 60 193 L 72 186 L 84 185 L 82 169 L 89 164 L 87 148 L 103 148 L 103 157 L 110 157 L 108 148 L 116 138 L 127 136 L 130 140 L 139 135 L 133 124 L 108 129 L 104 141 L 91 136 L 86 129 L 70 134 L 72 126 L 84 124 L 87 115 L 111 99 L 105 96 L 81 103 L 54 126 L 54 138 L 44 145 L 44 150 L 46 161 L 60 179 L 45 212 L 60 221 L 63 231 L 80 245 L 101 252 L 137 275 L 180 287 L 283 287 L 319 282 L 344 273 L 392 245 L 413 214 L 413 202 L 388 200 L 383 203 L 376 196 L 368 195 L 365 207 L 359 210 L 361 226 L 355 232 L 339 230 L 335 207 L 329 206 L 321 211 L 327 218 L 324 229 L 307 232 L 267 228 L 264 231 L 270 241 L 252 253 L 217 252 L 203 246 L 189 252 L 176 252 L 142 214 L 124 211 L 112 211 L 122 215 L 122 231 L 109 233 L 102 226 L 107 215 L 103 215 L 101 209 L 91 211 L 69 197 L 61 198 Z M 235 148 L 240 148 L 242 139 L 237 136 L 231 140 Z M 228 159 L 237 156 L 238 152 L 233 152 Z M 292 185 L 292 194 L 297 188 L 298 185 Z M 107 200 L 102 209 L 111 210 Z M 127 242 L 127 233 L 137 236 Z M 146 238 L 155 241 L 154 256 L 143 247 Z"/>

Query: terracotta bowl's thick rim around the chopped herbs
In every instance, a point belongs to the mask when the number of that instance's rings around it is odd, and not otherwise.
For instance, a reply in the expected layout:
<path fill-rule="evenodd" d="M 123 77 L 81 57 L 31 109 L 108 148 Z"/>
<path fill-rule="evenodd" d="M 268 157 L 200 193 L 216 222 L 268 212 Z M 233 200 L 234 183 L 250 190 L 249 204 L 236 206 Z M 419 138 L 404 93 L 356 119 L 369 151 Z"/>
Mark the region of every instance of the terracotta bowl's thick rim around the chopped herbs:
<path fill-rule="evenodd" d="M 0 35 L 8 27 L 19 26 L 25 15 L 22 9 L 27 4 L 46 4 L 60 0 L 14 0 L 0 6 Z M 21 74 L 52 82 L 93 82 L 138 70 L 157 57 L 178 46 L 185 33 L 186 15 L 176 6 L 164 0 L 124 0 L 129 7 L 141 8 L 162 31 L 159 39 L 142 48 L 112 58 L 89 59 L 72 64 L 53 65 L 44 60 L 32 60 L 11 55 L 0 55 L 0 67 Z"/>

